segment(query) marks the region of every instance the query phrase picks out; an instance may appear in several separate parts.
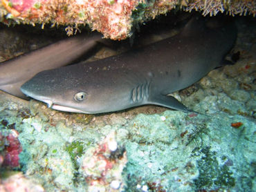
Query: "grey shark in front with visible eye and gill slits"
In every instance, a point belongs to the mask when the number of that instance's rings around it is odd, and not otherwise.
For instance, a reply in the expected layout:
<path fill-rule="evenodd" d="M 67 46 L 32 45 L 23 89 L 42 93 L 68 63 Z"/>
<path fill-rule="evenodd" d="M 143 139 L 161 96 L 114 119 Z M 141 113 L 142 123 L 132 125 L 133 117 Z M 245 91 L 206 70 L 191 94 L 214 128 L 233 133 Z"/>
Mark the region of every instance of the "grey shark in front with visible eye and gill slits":
<path fill-rule="evenodd" d="M 205 28 L 193 19 L 179 35 L 106 59 L 46 70 L 21 90 L 60 111 L 106 113 L 156 104 L 188 112 L 167 95 L 219 66 L 235 31 L 232 25 Z"/>

